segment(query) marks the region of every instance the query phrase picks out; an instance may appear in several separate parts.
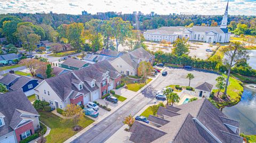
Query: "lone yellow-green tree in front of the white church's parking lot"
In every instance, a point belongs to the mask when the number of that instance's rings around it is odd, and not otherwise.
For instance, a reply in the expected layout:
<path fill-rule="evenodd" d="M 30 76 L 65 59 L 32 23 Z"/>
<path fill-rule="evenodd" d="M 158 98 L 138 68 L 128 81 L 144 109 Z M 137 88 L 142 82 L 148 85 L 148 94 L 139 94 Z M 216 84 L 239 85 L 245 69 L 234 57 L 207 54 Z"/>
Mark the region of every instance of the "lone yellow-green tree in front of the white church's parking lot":
<path fill-rule="evenodd" d="M 178 38 L 173 44 L 172 53 L 177 56 L 187 54 L 189 52 L 187 41 L 188 39 Z"/>

